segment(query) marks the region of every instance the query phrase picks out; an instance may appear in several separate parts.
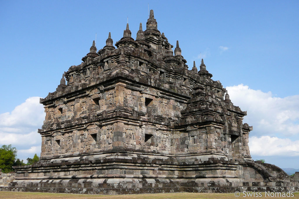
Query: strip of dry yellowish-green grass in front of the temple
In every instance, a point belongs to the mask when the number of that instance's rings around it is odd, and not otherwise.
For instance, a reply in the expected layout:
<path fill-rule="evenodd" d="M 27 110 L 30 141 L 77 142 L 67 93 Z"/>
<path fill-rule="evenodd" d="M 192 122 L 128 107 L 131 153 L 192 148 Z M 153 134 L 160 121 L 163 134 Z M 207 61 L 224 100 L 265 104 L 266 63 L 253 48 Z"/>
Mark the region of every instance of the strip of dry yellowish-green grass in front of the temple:
<path fill-rule="evenodd" d="M 158 194 L 132 194 L 132 195 L 87 195 L 87 194 L 64 194 L 64 193 L 39 193 L 39 192 L 4 192 L 0 191 L 0 198 L 202 198 L 202 199 L 231 199 L 231 198 L 299 198 L 299 192 L 294 197 L 235 197 L 234 193 L 158 193 Z"/>

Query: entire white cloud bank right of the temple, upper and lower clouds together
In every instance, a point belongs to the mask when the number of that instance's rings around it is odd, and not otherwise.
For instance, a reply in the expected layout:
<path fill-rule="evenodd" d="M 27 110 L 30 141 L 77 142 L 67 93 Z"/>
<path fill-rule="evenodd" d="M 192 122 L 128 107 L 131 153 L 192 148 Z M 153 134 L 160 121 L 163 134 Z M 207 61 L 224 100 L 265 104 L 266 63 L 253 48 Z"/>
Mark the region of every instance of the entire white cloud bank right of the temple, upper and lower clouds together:
<path fill-rule="evenodd" d="M 278 98 L 243 84 L 226 89 L 234 105 L 247 111 L 243 122 L 253 126 L 251 155 L 299 156 L 299 95 Z"/>

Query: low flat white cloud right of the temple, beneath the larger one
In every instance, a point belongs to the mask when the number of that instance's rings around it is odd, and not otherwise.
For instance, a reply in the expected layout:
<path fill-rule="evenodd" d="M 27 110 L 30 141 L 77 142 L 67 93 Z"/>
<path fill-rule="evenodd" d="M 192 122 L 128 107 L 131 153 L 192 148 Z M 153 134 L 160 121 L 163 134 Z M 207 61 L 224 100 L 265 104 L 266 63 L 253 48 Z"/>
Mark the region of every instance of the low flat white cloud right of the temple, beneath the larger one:
<path fill-rule="evenodd" d="M 251 155 L 257 156 L 298 156 L 299 140 L 270 136 L 250 137 L 249 150 Z"/>

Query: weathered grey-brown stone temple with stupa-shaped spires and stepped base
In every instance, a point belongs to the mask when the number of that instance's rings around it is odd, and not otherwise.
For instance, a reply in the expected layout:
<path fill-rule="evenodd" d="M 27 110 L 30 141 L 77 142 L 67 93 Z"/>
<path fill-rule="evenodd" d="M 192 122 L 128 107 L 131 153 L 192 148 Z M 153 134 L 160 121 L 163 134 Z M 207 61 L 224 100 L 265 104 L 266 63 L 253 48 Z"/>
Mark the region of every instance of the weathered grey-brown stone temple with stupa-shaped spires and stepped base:
<path fill-rule="evenodd" d="M 127 24 L 115 46 L 110 33 L 99 51 L 93 43 L 40 99 L 40 161 L 15 167 L 16 178 L 0 190 L 298 191 L 298 180 L 282 169 L 252 160 L 246 112 L 204 61 L 188 70 L 179 42 L 172 48 L 152 10 L 136 39 Z"/>

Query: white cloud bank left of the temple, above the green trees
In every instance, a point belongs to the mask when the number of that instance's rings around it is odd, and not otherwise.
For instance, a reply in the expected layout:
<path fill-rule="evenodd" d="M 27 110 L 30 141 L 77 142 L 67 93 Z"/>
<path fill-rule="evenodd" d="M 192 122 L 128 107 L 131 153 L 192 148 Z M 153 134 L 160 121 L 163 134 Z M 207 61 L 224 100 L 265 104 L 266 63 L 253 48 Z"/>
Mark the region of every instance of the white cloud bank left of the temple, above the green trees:
<path fill-rule="evenodd" d="M 13 111 L 0 114 L 0 146 L 9 145 L 18 149 L 20 159 L 33 158 L 40 154 L 41 135 L 45 112 L 39 97 L 30 97 L 16 106 Z"/>

